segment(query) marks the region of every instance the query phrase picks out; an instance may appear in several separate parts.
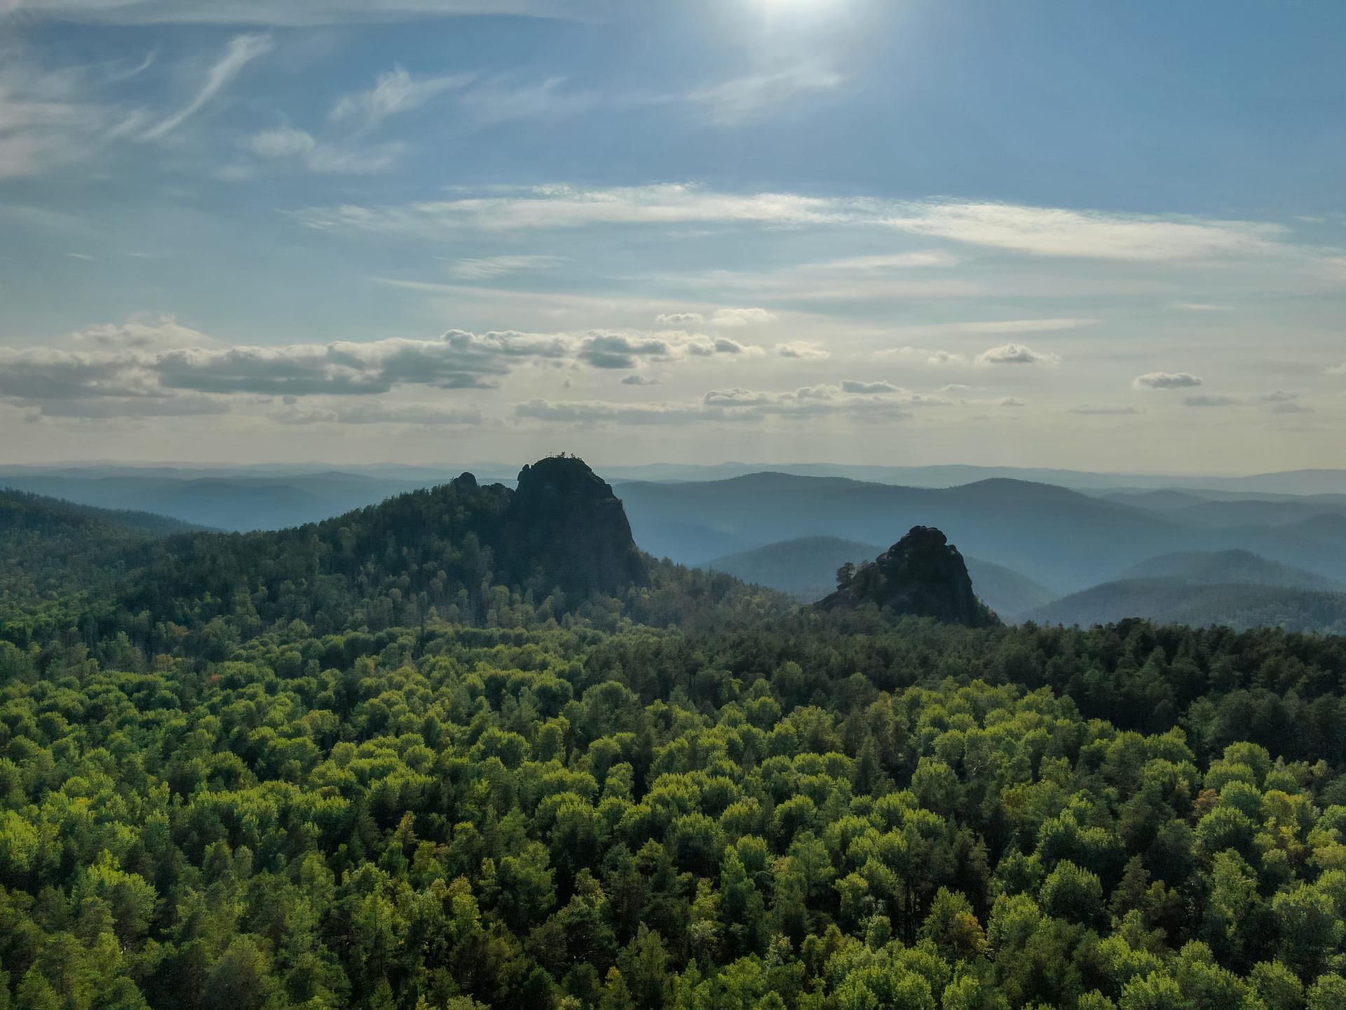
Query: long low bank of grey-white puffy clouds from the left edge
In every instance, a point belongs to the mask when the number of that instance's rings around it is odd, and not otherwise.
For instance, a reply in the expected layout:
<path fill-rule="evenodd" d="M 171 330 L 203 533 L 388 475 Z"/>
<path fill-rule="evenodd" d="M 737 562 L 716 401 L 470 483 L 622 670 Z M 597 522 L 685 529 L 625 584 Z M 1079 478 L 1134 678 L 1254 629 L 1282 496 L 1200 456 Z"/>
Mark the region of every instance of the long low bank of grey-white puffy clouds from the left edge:
<path fill-rule="evenodd" d="M 75 350 L 0 347 L 0 401 L 66 416 L 170 416 L 227 408 L 226 397 L 342 397 L 371 401 L 401 388 L 491 389 L 528 365 L 637 369 L 647 364 L 763 354 L 724 337 L 682 331 L 468 333 L 363 343 L 221 346 L 174 316 L 140 314 L 70 335 Z M 631 382 L 629 382 L 631 385 Z M 105 401 L 102 407 L 90 407 Z M 140 403 L 144 401 L 144 403 Z M 171 401 L 182 401 L 172 405 Z M 54 404 L 83 404 L 82 407 Z M 293 404 L 291 404 L 293 405 Z M 50 409 L 48 409 L 50 408 Z M 291 423 L 326 419 L 330 407 L 291 411 Z M 347 409 L 349 423 L 396 420 L 382 408 Z M 440 422 L 450 423 L 448 415 Z"/>

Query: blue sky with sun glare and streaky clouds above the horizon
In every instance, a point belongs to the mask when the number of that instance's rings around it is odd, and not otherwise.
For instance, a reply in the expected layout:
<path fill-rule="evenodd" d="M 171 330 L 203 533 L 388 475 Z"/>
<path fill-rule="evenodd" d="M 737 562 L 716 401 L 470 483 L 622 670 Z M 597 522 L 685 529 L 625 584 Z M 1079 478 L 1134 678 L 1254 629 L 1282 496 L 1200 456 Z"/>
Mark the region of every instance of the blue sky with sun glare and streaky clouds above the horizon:
<path fill-rule="evenodd" d="M 1346 466 L 1346 4 L 0 0 L 0 462 Z"/>

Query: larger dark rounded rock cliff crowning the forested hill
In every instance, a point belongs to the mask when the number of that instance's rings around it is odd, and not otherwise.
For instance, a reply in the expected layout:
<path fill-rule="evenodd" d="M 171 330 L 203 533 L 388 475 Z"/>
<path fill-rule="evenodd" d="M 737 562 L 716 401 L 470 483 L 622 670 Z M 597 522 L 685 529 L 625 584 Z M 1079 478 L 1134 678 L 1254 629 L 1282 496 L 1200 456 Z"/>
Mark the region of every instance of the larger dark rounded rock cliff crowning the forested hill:
<path fill-rule="evenodd" d="M 581 459 L 551 457 L 520 470 L 502 533 L 498 556 L 521 583 L 540 574 L 545 588 L 584 595 L 649 584 L 622 502 Z"/>

